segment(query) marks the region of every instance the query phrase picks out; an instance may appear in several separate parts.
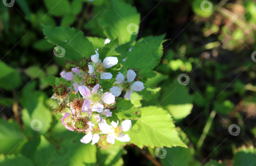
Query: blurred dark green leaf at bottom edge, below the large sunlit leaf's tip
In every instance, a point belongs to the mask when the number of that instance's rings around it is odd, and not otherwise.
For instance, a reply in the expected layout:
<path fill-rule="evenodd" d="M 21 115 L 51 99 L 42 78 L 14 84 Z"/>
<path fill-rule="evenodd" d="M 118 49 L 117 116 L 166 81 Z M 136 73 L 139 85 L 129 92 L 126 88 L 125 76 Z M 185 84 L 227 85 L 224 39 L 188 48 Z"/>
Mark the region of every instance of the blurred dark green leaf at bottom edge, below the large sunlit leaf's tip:
<path fill-rule="evenodd" d="M 164 149 L 166 150 L 167 154 L 166 157 L 161 159 L 161 163 L 163 164 L 163 166 L 169 166 L 170 163 L 175 166 L 188 166 L 188 163 L 192 159 L 192 155 L 190 154 L 190 151 L 187 148 L 165 147 Z"/>

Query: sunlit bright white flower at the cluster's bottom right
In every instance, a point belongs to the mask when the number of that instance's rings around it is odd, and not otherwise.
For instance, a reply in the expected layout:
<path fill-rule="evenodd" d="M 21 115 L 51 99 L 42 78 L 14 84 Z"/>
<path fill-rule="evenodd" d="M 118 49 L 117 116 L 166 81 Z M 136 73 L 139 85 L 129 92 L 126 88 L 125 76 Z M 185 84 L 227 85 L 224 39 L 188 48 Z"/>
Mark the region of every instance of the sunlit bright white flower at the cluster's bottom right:
<path fill-rule="evenodd" d="M 111 122 L 110 131 L 107 134 L 107 142 L 114 144 L 115 139 L 122 141 L 122 142 L 129 142 L 130 137 L 127 134 L 123 134 L 122 131 L 128 131 L 131 128 L 131 120 L 125 120 L 121 123 L 121 126 L 118 126 L 119 121 L 115 123 L 114 121 Z"/>

